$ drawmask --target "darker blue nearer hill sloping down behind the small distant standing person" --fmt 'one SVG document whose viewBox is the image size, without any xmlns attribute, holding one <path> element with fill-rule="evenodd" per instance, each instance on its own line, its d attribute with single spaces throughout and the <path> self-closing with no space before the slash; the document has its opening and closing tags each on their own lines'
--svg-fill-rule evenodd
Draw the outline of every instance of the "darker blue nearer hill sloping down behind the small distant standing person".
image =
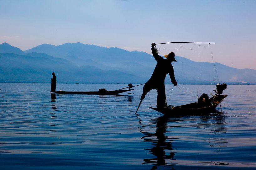
<svg viewBox="0 0 256 170">
<path fill-rule="evenodd" d="M 31 55 L 31 53 L 29 53 Z M 77 66 L 70 61 L 40 56 L 0 54 L 0 82 L 50 82 L 55 72 L 57 82 L 65 83 L 129 83 L 141 77 L 118 70 L 103 71 L 95 66 Z"/>
</svg>

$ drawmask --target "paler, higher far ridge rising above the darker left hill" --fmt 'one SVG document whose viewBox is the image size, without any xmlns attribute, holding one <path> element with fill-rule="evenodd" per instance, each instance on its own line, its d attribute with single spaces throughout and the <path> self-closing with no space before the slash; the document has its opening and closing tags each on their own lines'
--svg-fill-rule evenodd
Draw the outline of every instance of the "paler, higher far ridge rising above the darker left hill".
<svg viewBox="0 0 256 170">
<path fill-rule="evenodd" d="M 147 66 L 155 63 L 154 58 L 145 52 L 129 52 L 116 47 L 107 48 L 82 43 L 65 43 L 58 46 L 42 44 L 24 52 L 45 53 L 72 61 L 78 66 L 87 65 L 88 60 L 108 66 L 118 66 L 122 62 L 128 61 L 146 64 Z"/>
</svg>

